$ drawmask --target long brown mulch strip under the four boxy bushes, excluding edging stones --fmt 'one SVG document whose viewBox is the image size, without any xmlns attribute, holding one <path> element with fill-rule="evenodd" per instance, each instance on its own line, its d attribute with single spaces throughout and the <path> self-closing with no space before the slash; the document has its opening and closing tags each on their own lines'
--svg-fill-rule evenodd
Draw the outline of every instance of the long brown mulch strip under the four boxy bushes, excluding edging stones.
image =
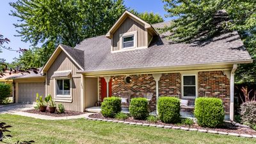
<svg viewBox="0 0 256 144">
<path fill-rule="evenodd" d="M 90 115 L 89 117 L 95 118 L 95 119 L 107 119 L 107 120 L 118 120 L 118 119 L 111 119 L 107 117 L 103 117 L 101 113 L 95 113 L 93 115 Z M 126 120 L 123 120 L 125 122 L 138 122 L 138 123 L 143 123 L 143 124 L 156 124 L 156 125 L 163 125 L 163 126 L 180 126 L 180 127 L 188 127 L 186 125 L 182 124 L 165 124 L 158 120 L 156 123 L 148 122 L 147 120 L 134 120 L 132 117 L 129 117 Z M 238 133 L 238 134 L 253 134 L 256 135 L 256 131 L 250 128 L 246 127 L 237 127 L 231 124 L 230 122 L 225 122 L 222 126 L 217 127 L 217 128 L 205 128 L 205 127 L 200 127 L 198 124 L 193 124 L 190 128 L 196 128 L 196 129 L 207 129 L 207 130 L 212 130 L 212 131 L 223 131 L 226 133 Z"/>
</svg>

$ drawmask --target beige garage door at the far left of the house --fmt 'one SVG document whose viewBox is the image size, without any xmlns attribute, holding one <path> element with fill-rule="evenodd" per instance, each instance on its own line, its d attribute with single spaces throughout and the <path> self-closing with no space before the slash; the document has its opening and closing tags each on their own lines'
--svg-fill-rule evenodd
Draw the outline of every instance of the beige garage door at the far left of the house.
<svg viewBox="0 0 256 144">
<path fill-rule="evenodd" d="M 45 86 L 44 83 L 19 83 L 19 103 L 33 103 L 36 101 L 36 93 L 39 93 L 39 96 L 45 95 Z"/>
</svg>

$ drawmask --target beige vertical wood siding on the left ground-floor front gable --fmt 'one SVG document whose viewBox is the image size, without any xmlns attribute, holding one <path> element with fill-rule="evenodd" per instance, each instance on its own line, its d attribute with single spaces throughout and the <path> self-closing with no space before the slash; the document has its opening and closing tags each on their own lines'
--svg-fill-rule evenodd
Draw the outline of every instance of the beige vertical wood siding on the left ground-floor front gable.
<svg viewBox="0 0 256 144">
<path fill-rule="evenodd" d="M 72 102 L 60 102 L 65 106 L 66 110 L 81 112 L 81 75 L 76 72 L 79 71 L 78 66 L 72 60 L 61 52 L 56 61 L 52 63 L 51 68 L 47 71 L 47 94 L 54 96 L 54 79 L 51 78 L 54 71 L 72 70 Z M 58 104 L 58 103 L 57 103 Z"/>
</svg>

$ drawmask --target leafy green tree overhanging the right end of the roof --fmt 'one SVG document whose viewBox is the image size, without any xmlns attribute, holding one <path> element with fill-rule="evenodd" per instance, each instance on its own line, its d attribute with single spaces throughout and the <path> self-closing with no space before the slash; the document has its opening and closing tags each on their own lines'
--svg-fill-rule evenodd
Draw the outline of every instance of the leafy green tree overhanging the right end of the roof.
<svg viewBox="0 0 256 144">
<path fill-rule="evenodd" d="M 196 38 L 212 38 L 223 31 L 238 31 L 244 45 L 256 59 L 256 1 L 255 0 L 163 0 L 166 17 L 176 17 L 162 29 L 170 31 L 168 38 L 191 42 Z M 225 12 L 228 18 L 216 18 Z M 237 82 L 256 82 L 256 64 L 241 64 L 236 72 Z"/>
</svg>

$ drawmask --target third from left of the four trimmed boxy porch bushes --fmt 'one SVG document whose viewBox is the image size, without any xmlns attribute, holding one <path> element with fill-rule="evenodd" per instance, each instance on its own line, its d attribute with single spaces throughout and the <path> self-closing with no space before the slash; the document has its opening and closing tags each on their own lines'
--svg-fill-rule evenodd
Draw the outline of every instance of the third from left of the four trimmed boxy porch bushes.
<svg viewBox="0 0 256 144">
<path fill-rule="evenodd" d="M 180 121 L 180 100 L 177 97 L 159 97 L 157 109 L 162 122 L 176 123 Z"/>
</svg>

